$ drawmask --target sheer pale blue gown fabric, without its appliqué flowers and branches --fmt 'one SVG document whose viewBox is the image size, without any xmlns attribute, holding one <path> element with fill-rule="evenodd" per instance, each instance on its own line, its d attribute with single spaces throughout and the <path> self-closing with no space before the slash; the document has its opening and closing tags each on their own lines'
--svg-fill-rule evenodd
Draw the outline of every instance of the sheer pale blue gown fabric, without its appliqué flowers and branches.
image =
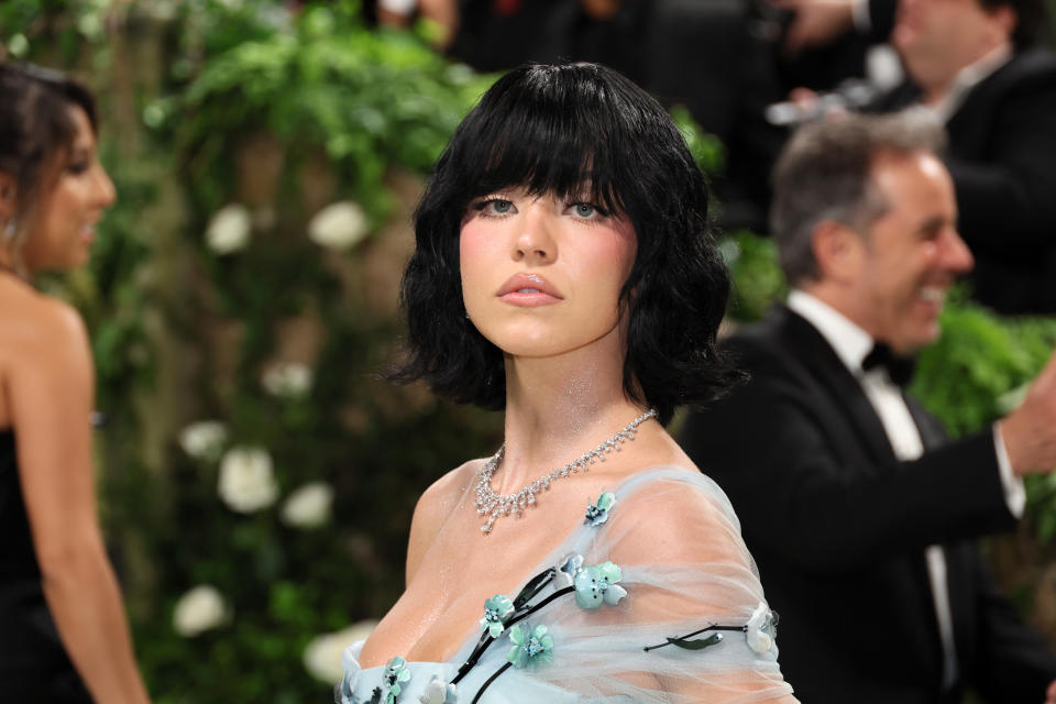
<svg viewBox="0 0 1056 704">
<path fill-rule="evenodd" d="M 528 702 L 795 702 L 778 667 L 776 644 L 765 636 L 749 646 L 746 626 L 765 613 L 759 575 L 740 538 L 740 525 L 722 490 L 695 471 L 653 468 L 628 477 L 613 491 L 615 505 L 593 525 L 584 522 L 538 565 L 560 568 L 569 556 L 583 566 L 610 561 L 626 595 L 615 604 L 585 608 L 571 591 L 519 623 L 531 632 L 543 625 L 552 638 L 552 660 L 509 667 L 487 684 L 482 704 Z M 455 559 L 452 556 L 452 559 Z M 568 581 L 548 584 L 529 604 L 538 604 Z M 515 598 L 522 584 L 509 585 Z M 615 600 L 613 600 L 615 601 Z M 481 616 L 484 604 L 481 604 Z M 721 634 L 702 649 L 668 644 L 711 625 L 735 629 L 690 636 L 690 646 Z M 758 620 L 757 620 L 758 625 Z M 469 704 L 506 663 L 510 631 L 504 630 L 457 684 L 457 701 Z M 409 662 L 410 679 L 391 696 L 386 668 L 361 670 L 362 642 L 343 657 L 345 676 L 339 704 L 417 704 L 430 681 L 450 683 L 477 646 L 474 630 L 448 662 Z M 767 629 L 770 635 L 773 629 Z M 758 635 L 758 630 L 757 630 Z M 668 644 L 668 645 L 664 645 Z M 646 647 L 663 646 L 646 651 Z M 761 651 L 761 652 L 760 652 Z M 436 685 L 433 685 L 436 686 Z M 443 698 L 420 701 L 443 703 Z M 448 698 L 450 704 L 452 698 Z"/>
</svg>

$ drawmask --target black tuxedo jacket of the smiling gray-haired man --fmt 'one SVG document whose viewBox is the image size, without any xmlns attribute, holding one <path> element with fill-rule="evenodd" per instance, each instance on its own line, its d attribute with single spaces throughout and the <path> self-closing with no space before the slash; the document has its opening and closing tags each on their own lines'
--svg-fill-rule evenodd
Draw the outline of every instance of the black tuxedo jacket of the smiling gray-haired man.
<svg viewBox="0 0 1056 704">
<path fill-rule="evenodd" d="M 692 414 L 682 447 L 729 495 L 779 661 L 805 704 L 1040 704 L 1056 658 L 994 591 L 971 539 L 1014 526 L 992 433 L 946 442 L 910 400 L 926 451 L 899 462 L 858 381 L 820 332 L 778 307 L 727 346 L 750 381 Z M 942 543 L 963 682 L 943 650 L 924 550 Z"/>
</svg>

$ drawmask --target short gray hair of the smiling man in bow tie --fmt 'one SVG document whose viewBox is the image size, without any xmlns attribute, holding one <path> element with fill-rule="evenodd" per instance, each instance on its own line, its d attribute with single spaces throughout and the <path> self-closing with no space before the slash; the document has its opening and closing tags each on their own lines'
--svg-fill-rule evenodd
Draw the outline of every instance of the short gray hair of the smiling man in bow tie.
<svg viewBox="0 0 1056 704">
<path fill-rule="evenodd" d="M 789 141 L 773 169 L 770 230 L 789 284 L 816 280 L 812 238 L 822 222 L 859 232 L 887 213 L 872 166 L 880 155 L 937 153 L 945 135 L 924 110 L 886 116 L 850 114 L 807 124 Z"/>
</svg>

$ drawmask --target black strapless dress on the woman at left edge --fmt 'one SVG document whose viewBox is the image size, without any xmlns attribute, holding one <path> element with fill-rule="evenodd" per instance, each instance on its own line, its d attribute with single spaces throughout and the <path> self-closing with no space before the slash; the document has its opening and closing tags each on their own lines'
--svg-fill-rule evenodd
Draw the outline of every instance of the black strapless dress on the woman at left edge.
<svg viewBox="0 0 1056 704">
<path fill-rule="evenodd" d="M 92 702 L 44 601 L 11 430 L 0 430 L 0 702 Z"/>
</svg>

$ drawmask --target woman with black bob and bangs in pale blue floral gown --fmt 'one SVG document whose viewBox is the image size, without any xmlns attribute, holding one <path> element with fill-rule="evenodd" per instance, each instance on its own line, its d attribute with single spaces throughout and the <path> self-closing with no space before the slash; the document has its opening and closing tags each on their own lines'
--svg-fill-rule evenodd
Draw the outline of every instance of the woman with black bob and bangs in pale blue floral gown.
<svg viewBox="0 0 1056 704">
<path fill-rule="evenodd" d="M 393 376 L 505 409 L 505 442 L 419 499 L 338 702 L 795 701 L 737 518 L 661 426 L 734 377 L 706 215 L 679 130 L 607 68 L 518 68 L 465 118 Z"/>
</svg>

